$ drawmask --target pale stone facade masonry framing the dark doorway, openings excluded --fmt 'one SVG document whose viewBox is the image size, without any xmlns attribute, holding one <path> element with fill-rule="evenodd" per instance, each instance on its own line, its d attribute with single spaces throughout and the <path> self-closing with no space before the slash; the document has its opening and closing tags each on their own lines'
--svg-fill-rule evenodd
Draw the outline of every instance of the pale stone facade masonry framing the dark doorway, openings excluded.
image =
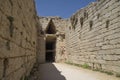
<svg viewBox="0 0 120 80">
<path fill-rule="evenodd" d="M 39 40 L 39 43 L 40 44 L 45 44 L 46 43 L 46 33 L 45 33 L 45 30 L 50 22 L 50 20 L 52 19 L 53 21 L 53 24 L 56 28 L 56 48 L 55 48 L 55 61 L 56 62 L 61 62 L 61 61 L 64 61 L 65 58 L 66 58 L 66 55 L 65 55 L 65 28 L 67 26 L 67 20 L 65 19 L 62 19 L 60 17 L 39 17 L 39 20 L 40 20 L 40 24 L 42 26 L 42 30 L 43 30 L 43 34 L 44 34 L 44 39 L 41 39 Z M 43 38 L 41 37 L 41 38 Z M 45 46 L 39 46 L 39 51 L 38 52 L 38 55 L 41 57 L 43 57 L 42 59 L 44 60 L 41 60 L 40 58 L 40 61 L 45 61 Z M 42 52 L 42 53 L 41 53 Z"/>
</svg>

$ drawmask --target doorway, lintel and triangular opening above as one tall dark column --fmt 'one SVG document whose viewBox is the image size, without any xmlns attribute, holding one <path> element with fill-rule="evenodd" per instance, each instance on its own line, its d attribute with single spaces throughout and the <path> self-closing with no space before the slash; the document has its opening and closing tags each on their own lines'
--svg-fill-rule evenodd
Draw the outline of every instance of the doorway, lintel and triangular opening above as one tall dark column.
<svg viewBox="0 0 120 80">
<path fill-rule="evenodd" d="M 55 44 L 56 44 L 56 37 L 54 35 L 55 33 L 56 33 L 55 25 L 51 19 L 46 28 L 46 34 L 47 34 L 47 37 L 46 37 L 46 62 L 54 62 L 55 61 Z"/>
</svg>

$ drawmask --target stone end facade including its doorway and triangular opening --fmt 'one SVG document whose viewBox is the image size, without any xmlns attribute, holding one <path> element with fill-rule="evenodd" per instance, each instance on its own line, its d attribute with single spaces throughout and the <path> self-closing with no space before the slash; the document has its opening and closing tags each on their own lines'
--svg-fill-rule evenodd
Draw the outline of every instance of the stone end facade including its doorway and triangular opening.
<svg viewBox="0 0 120 80">
<path fill-rule="evenodd" d="M 38 62 L 46 61 L 47 56 L 54 59 L 55 62 L 62 62 L 66 59 L 65 53 L 65 28 L 67 27 L 67 20 L 60 17 L 39 17 L 42 26 L 43 36 L 38 36 Z M 53 49 L 48 49 L 47 46 L 54 46 Z M 52 52 L 52 51 L 54 52 Z M 51 53 L 51 54 L 50 54 Z M 50 54 L 50 55 L 49 55 Z"/>
</svg>

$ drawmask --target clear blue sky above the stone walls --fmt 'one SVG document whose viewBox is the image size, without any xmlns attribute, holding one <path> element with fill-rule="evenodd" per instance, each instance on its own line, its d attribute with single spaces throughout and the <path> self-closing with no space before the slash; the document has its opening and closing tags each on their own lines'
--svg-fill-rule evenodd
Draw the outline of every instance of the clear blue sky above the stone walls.
<svg viewBox="0 0 120 80">
<path fill-rule="evenodd" d="M 69 18 L 73 13 L 96 0 L 35 0 L 38 16 Z"/>
</svg>

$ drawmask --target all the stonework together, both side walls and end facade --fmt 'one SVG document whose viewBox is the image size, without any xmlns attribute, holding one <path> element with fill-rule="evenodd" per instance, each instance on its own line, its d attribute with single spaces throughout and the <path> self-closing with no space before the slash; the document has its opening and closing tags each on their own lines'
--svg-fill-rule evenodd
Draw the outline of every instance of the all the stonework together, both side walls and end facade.
<svg viewBox="0 0 120 80">
<path fill-rule="evenodd" d="M 37 17 L 34 0 L 0 0 L 0 80 L 25 80 L 35 62 L 120 76 L 120 0 L 97 0 L 69 19 Z"/>
</svg>

